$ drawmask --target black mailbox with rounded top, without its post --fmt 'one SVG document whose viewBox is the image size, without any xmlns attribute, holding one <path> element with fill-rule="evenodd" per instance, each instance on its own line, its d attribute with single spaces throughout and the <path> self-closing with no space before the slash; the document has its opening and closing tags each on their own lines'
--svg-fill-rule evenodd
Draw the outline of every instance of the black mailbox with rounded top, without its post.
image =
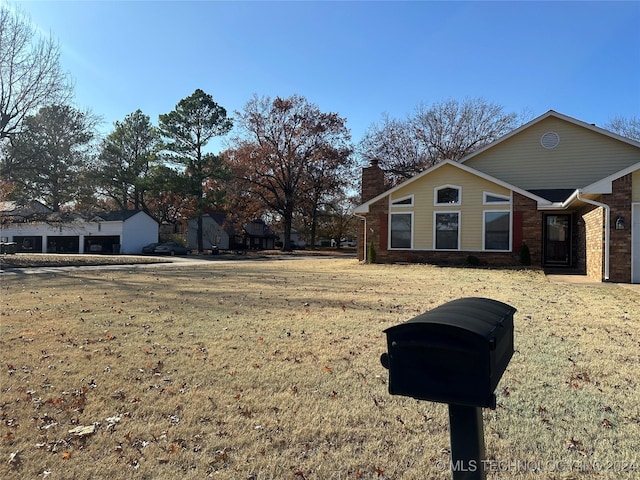
<svg viewBox="0 0 640 480">
<path fill-rule="evenodd" d="M 389 393 L 495 408 L 494 390 L 513 355 L 516 309 L 461 298 L 385 330 Z"/>
</svg>

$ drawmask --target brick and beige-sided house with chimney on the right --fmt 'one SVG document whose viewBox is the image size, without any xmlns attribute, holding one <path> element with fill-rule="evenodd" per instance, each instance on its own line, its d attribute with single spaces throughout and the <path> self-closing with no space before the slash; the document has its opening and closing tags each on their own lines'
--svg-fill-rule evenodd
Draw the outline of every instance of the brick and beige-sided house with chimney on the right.
<svg viewBox="0 0 640 480">
<path fill-rule="evenodd" d="M 640 142 L 559 114 L 532 120 L 460 162 L 385 191 L 362 173 L 358 255 L 379 262 L 571 269 L 640 283 Z"/>
</svg>

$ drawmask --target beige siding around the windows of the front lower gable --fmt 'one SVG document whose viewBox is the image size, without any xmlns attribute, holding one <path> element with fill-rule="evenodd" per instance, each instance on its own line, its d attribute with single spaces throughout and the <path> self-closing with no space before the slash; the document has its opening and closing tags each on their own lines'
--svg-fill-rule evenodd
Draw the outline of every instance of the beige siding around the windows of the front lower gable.
<svg viewBox="0 0 640 480">
<path fill-rule="evenodd" d="M 462 188 L 460 205 L 436 206 L 434 189 L 443 185 L 456 185 Z M 468 251 L 482 250 L 482 223 L 485 210 L 510 210 L 510 205 L 483 205 L 484 192 L 511 196 L 511 191 L 483 178 L 472 175 L 451 165 L 444 165 L 429 175 L 401 188 L 391 196 L 394 199 L 414 195 L 413 207 L 390 207 L 391 213 L 414 212 L 413 248 L 416 250 L 433 249 L 434 212 L 461 212 L 460 249 Z"/>
</svg>

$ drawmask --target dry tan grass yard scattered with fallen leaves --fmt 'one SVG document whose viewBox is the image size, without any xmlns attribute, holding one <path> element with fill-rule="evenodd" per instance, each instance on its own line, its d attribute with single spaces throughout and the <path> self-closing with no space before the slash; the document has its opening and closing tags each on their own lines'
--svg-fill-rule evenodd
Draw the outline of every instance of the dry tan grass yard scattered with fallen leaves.
<svg viewBox="0 0 640 480">
<path fill-rule="evenodd" d="M 640 298 L 539 271 L 353 259 L 5 276 L 0 478 L 450 478 L 446 405 L 392 397 L 383 330 L 518 309 L 488 478 L 640 477 Z"/>
</svg>

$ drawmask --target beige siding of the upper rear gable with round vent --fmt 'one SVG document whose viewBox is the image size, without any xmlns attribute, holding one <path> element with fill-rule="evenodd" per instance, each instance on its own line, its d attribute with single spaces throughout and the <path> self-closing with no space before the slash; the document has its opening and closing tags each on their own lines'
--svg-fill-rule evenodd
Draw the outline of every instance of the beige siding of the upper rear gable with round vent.
<svg viewBox="0 0 640 480">
<path fill-rule="evenodd" d="M 546 149 L 542 135 L 560 143 Z M 640 162 L 640 149 L 550 117 L 470 158 L 465 165 L 525 190 L 582 188 Z"/>
</svg>

